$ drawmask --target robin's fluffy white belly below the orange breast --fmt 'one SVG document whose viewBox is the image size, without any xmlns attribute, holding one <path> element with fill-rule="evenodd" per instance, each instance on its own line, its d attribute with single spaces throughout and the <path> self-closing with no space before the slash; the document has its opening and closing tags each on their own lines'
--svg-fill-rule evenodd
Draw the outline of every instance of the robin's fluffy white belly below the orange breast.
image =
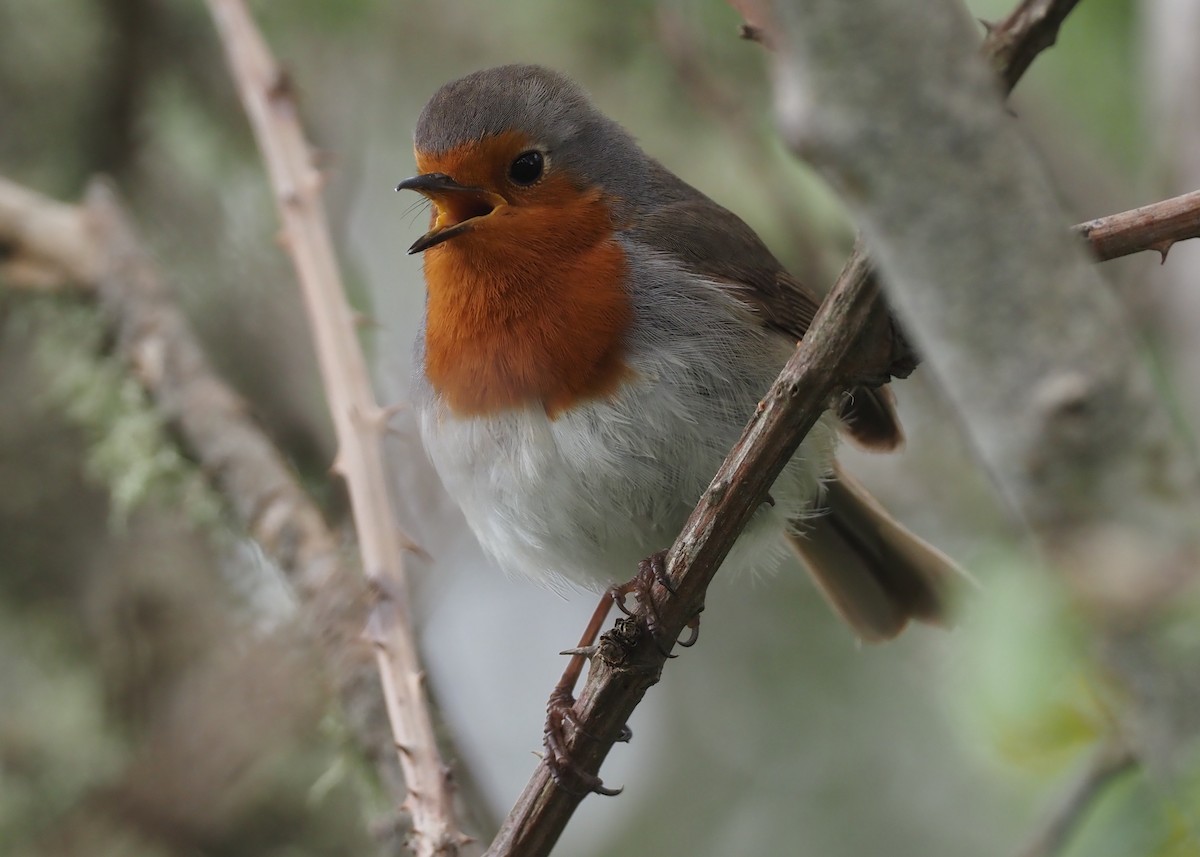
<svg viewBox="0 0 1200 857">
<path fill-rule="evenodd" d="M 767 376 L 758 389 L 726 372 L 704 378 L 698 395 L 694 384 L 670 380 L 676 367 L 642 361 L 635 368 L 638 377 L 612 400 L 553 420 L 540 406 L 466 419 L 436 396 L 419 406 L 443 484 L 510 574 L 595 589 L 632 577 L 640 559 L 671 546 L 773 378 L 758 370 Z M 726 384 L 736 389 L 720 389 Z M 815 504 L 833 438 L 826 418 L 776 480 L 775 504 L 758 510 L 730 564 L 769 569 L 785 555 L 782 531 Z"/>
</svg>

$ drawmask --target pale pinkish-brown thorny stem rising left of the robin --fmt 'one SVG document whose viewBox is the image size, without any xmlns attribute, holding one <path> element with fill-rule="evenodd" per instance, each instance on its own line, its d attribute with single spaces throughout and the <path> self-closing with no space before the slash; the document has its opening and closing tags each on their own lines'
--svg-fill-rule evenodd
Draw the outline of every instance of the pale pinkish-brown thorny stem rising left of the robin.
<svg viewBox="0 0 1200 857">
<path fill-rule="evenodd" d="M 455 820 L 449 768 L 438 754 L 408 606 L 403 550 L 384 479 L 386 414 L 374 400 L 322 208 L 322 178 L 300 128 L 287 77 L 241 0 L 209 0 L 229 67 L 275 188 L 286 245 L 304 293 L 337 435 L 364 570 L 388 715 L 404 772 L 419 857 L 455 855 L 468 838 Z"/>
</svg>

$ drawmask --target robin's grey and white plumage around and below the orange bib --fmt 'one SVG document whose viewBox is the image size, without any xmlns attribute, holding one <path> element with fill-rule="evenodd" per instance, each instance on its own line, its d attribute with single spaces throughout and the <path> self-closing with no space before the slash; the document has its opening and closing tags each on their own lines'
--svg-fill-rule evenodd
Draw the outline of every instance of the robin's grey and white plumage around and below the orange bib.
<svg viewBox="0 0 1200 857">
<path fill-rule="evenodd" d="M 716 283 L 670 257 L 625 246 L 635 323 L 630 378 L 550 418 L 540 402 L 455 416 L 424 376 L 414 401 L 426 450 L 484 549 L 508 571 L 600 588 L 670 546 L 791 342 Z M 834 432 L 818 424 L 739 539 L 731 563 L 769 567 L 788 521 L 820 493 Z"/>
</svg>

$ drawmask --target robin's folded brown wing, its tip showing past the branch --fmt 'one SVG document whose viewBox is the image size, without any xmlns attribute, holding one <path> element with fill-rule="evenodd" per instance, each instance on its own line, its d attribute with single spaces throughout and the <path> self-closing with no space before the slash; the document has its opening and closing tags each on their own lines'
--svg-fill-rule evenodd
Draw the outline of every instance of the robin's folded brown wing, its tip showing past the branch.
<svg viewBox="0 0 1200 857">
<path fill-rule="evenodd" d="M 808 332 L 820 299 L 793 277 L 745 221 L 662 170 L 655 174 L 655 196 L 666 199 L 642 211 L 630 236 L 670 253 L 714 282 L 727 283 L 762 323 L 790 338 Z M 862 447 L 895 449 L 904 431 L 895 400 L 886 386 L 854 388 L 842 398 L 838 415 Z"/>
</svg>

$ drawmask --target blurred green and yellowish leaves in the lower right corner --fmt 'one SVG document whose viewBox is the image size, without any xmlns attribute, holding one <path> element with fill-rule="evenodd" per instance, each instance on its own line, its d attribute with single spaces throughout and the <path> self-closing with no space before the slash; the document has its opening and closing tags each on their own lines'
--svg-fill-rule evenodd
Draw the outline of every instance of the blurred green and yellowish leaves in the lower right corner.
<svg viewBox="0 0 1200 857">
<path fill-rule="evenodd" d="M 1108 679 L 1091 642 L 1096 630 L 1060 577 L 1007 553 L 979 570 L 986 598 L 974 600 L 959 631 L 964 648 L 952 699 L 965 744 L 1021 781 L 1036 817 L 1099 742 L 1129 729 L 1130 701 Z M 1195 663 L 1196 636 L 1194 600 L 1180 599 L 1156 634 L 1156 651 L 1171 663 Z M 1198 750 L 1172 753 L 1168 769 L 1139 754 L 1145 768 L 1102 784 L 1064 856 L 1200 857 Z"/>
</svg>

